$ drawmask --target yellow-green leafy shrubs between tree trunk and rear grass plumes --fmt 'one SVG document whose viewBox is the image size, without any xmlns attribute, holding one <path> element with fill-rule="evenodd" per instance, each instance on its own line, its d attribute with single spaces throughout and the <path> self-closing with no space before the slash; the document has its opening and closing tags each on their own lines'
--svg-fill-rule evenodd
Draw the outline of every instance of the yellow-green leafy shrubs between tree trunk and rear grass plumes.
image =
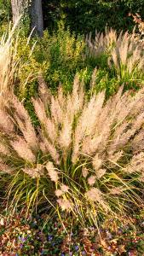
<svg viewBox="0 0 144 256">
<path fill-rule="evenodd" d="M 27 96 L 30 90 L 33 90 L 31 95 L 35 94 L 37 73 L 43 73 L 53 89 L 60 82 L 66 90 L 71 89 L 75 73 L 84 66 L 84 47 L 83 38 L 75 38 L 68 30 L 65 32 L 62 29 L 53 36 L 44 32 L 43 38 L 20 37 L 17 49 L 20 96 Z"/>
</svg>

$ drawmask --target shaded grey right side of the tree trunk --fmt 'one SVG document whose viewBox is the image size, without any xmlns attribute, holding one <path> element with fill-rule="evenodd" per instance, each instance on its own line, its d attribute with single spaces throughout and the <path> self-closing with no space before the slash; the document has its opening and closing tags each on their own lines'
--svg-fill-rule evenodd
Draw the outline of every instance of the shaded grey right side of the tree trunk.
<svg viewBox="0 0 144 256">
<path fill-rule="evenodd" d="M 31 29 L 38 36 L 43 36 L 42 0 L 32 0 L 30 7 Z"/>
</svg>

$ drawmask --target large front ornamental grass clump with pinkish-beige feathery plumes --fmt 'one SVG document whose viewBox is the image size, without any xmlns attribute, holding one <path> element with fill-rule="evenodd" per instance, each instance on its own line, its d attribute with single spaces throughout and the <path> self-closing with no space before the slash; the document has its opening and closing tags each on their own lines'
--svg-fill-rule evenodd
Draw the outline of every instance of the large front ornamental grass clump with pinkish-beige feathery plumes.
<svg viewBox="0 0 144 256">
<path fill-rule="evenodd" d="M 0 111 L 0 175 L 9 210 L 53 207 L 82 224 L 140 207 L 144 181 L 144 90 L 54 96 L 39 79 L 39 126 L 16 96 Z M 5 182 L 5 183 L 4 183 Z"/>
</svg>

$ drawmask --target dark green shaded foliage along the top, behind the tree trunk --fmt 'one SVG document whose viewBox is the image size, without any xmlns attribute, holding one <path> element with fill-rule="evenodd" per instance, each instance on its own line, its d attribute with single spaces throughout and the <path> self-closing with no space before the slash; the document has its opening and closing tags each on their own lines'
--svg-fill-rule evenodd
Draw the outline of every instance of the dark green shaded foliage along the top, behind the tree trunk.
<svg viewBox="0 0 144 256">
<path fill-rule="evenodd" d="M 129 13 L 139 13 L 144 18 L 143 0 L 43 0 L 44 28 L 49 31 L 61 22 L 72 31 L 104 31 L 106 25 L 130 31 L 134 27 Z M 0 0 L 0 23 L 11 19 L 10 0 Z"/>
</svg>

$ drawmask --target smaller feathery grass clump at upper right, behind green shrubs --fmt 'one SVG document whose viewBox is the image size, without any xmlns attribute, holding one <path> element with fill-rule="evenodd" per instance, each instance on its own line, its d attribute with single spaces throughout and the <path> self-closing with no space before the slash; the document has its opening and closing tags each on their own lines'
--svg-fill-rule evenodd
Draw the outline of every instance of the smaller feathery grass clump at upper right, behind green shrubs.
<svg viewBox="0 0 144 256">
<path fill-rule="evenodd" d="M 135 31 L 128 32 L 106 31 L 95 32 L 95 40 L 87 36 L 88 55 L 100 58 L 107 56 L 107 66 L 113 70 L 118 80 L 135 85 L 143 83 L 144 50 L 141 36 Z"/>
</svg>

